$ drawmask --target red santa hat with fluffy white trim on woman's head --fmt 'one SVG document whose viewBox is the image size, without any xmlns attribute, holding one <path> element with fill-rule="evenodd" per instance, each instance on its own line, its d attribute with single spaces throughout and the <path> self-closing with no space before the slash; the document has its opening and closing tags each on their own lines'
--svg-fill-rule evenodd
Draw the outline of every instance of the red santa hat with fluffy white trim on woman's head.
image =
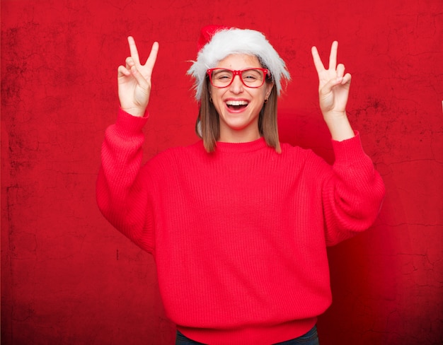
<svg viewBox="0 0 443 345">
<path fill-rule="evenodd" d="M 227 28 L 208 25 L 202 28 L 198 40 L 197 61 L 192 63 L 188 74 L 195 78 L 195 98 L 200 101 L 202 85 L 207 69 L 213 69 L 218 62 L 230 54 L 248 54 L 258 57 L 260 63 L 270 71 L 272 81 L 277 87 L 277 95 L 282 90 L 282 78 L 289 81 L 289 71 L 283 59 L 275 51 L 263 33 L 255 30 Z"/>
</svg>

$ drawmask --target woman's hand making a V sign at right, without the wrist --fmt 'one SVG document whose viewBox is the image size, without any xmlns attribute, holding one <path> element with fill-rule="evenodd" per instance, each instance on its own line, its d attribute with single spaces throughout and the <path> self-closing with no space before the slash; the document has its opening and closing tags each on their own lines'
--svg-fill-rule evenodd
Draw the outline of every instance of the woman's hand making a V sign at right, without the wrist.
<svg viewBox="0 0 443 345">
<path fill-rule="evenodd" d="M 346 115 L 346 103 L 351 84 L 351 75 L 345 74 L 345 66 L 337 65 L 338 42 L 330 47 L 329 66 L 325 69 L 316 47 L 312 47 L 313 63 L 318 74 L 318 97 L 320 109 L 326 121 L 330 117 Z"/>
</svg>

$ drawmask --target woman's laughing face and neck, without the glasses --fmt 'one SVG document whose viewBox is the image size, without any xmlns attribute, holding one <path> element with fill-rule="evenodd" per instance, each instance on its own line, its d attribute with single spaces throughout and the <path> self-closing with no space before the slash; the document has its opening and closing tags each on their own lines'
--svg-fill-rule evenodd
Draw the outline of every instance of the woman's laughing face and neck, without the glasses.
<svg viewBox="0 0 443 345">
<path fill-rule="evenodd" d="M 217 68 L 241 71 L 262 68 L 258 58 L 247 54 L 231 54 L 217 64 Z M 209 86 L 209 95 L 219 114 L 220 139 L 224 142 L 248 142 L 260 138 L 258 116 L 272 90 L 272 83 L 260 88 L 248 88 L 234 76 L 226 88 Z"/>
</svg>

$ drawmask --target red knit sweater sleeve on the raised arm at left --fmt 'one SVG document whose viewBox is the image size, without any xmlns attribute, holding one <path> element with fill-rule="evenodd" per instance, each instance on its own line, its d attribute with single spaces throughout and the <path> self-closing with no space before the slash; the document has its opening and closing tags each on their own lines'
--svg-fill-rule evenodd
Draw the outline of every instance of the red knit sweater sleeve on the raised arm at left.
<svg viewBox="0 0 443 345">
<path fill-rule="evenodd" d="M 120 109 L 117 121 L 105 131 L 96 184 L 103 216 L 143 250 L 154 248 L 153 216 L 149 208 L 149 176 L 142 169 L 142 128 L 146 117 Z"/>
</svg>

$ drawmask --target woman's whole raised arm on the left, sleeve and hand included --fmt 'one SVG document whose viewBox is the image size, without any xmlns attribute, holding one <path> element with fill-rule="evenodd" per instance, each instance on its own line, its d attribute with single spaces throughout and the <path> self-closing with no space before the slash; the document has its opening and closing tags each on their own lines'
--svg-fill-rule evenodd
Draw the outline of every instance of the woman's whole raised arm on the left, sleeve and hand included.
<svg viewBox="0 0 443 345">
<path fill-rule="evenodd" d="M 108 221 L 144 250 L 154 247 L 150 226 L 149 175 L 142 168 L 144 117 L 151 92 L 151 74 L 159 44 L 152 45 L 144 65 L 134 39 L 128 37 L 131 56 L 118 67 L 121 110 L 105 132 L 96 195 L 98 208 Z"/>
</svg>

